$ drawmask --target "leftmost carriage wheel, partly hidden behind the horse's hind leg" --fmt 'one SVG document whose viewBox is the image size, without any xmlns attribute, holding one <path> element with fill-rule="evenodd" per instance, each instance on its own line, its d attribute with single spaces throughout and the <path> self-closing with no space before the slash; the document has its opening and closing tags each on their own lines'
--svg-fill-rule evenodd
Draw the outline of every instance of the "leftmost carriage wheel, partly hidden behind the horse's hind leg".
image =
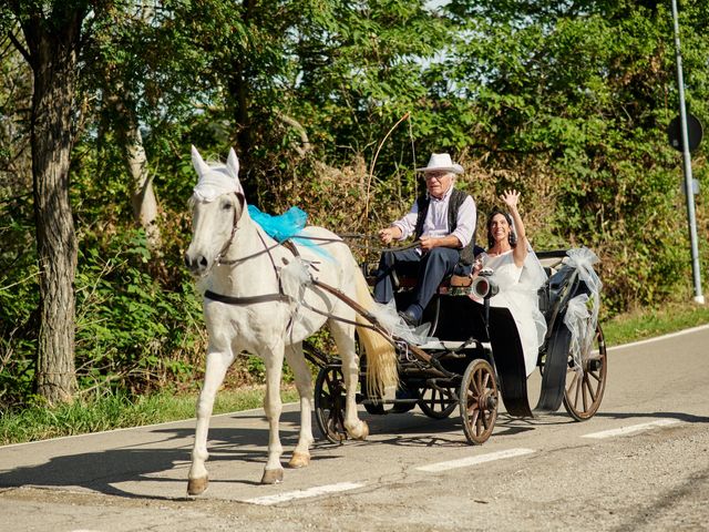
<svg viewBox="0 0 709 532">
<path fill-rule="evenodd" d="M 316 422 L 322 436 L 332 443 L 347 440 L 345 429 L 345 379 L 339 367 L 328 366 L 318 371 L 315 381 Z"/>
</svg>

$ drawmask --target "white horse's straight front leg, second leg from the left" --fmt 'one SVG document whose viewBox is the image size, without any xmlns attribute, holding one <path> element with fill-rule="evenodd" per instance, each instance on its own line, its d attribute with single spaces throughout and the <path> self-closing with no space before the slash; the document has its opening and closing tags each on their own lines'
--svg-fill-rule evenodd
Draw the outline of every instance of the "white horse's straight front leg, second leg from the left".
<svg viewBox="0 0 709 532">
<path fill-rule="evenodd" d="M 266 350 L 268 349 L 268 350 Z M 266 348 L 264 364 L 266 366 L 266 396 L 264 397 L 264 410 L 268 419 L 268 460 L 261 477 L 261 484 L 277 484 L 284 480 L 284 468 L 280 464 L 280 456 L 284 448 L 280 444 L 278 423 L 282 403 L 280 401 L 280 376 L 284 368 L 282 344 Z"/>
</svg>

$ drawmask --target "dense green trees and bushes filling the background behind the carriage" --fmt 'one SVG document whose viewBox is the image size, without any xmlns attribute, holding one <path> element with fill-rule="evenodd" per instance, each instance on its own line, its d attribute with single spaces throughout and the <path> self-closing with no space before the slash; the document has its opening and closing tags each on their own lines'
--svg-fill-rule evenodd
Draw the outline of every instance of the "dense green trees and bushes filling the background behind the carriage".
<svg viewBox="0 0 709 532">
<path fill-rule="evenodd" d="M 198 297 L 179 265 L 189 144 L 213 158 L 236 147 L 249 202 L 271 213 L 300 205 L 340 233 L 401 214 L 419 186 L 412 168 L 446 150 L 464 163 L 459 183 L 481 213 L 515 186 L 537 248 L 587 245 L 602 256 L 608 313 L 661 301 L 689 266 L 680 158 L 665 135 L 677 114 L 668 9 L 630 0 L 2 2 L 0 170 L 17 177 L 0 184 L 11 219 L 0 227 L 0 379 L 17 377 L 11 395 L 22 396 L 31 376 L 39 383 L 64 372 L 42 357 L 70 352 L 62 346 L 72 341 L 84 389 L 137 392 L 198 367 Z M 687 1 L 680 16 L 687 93 L 701 119 L 709 13 Z M 22 104 L 32 81 L 33 113 Z M 34 202 L 22 193 L 30 140 Z M 702 191 L 706 154 L 705 143 L 695 154 Z M 153 184 L 164 211 L 160 256 L 129 201 Z M 697 206 L 703 236 L 701 196 Z M 39 259 L 23 253 L 32 225 Z M 75 323 L 73 307 L 59 306 L 73 297 L 73 265 Z M 6 364 L 34 347 L 38 360 Z"/>
</svg>

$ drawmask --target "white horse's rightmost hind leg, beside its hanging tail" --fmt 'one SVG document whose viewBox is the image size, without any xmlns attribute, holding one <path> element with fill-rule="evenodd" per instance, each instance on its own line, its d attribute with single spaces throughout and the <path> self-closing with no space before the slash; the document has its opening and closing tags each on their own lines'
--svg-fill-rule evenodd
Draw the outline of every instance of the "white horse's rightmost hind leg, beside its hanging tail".
<svg viewBox="0 0 709 532">
<path fill-rule="evenodd" d="M 357 383 L 359 380 L 359 357 L 354 350 L 354 326 L 330 320 L 330 331 L 335 337 L 345 378 L 345 429 L 350 438 L 364 440 L 369 436 L 367 421 L 357 416 Z"/>
</svg>

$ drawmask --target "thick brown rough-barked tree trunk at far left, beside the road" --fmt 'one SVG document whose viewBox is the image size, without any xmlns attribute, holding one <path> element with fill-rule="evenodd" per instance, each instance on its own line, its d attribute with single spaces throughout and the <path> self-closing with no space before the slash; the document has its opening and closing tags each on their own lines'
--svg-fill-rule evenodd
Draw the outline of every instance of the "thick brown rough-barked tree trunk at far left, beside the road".
<svg viewBox="0 0 709 532">
<path fill-rule="evenodd" d="M 69 201 L 76 62 L 83 16 L 61 27 L 23 25 L 34 74 L 32 178 L 40 285 L 37 391 L 50 405 L 73 399 L 76 235 Z"/>
</svg>

